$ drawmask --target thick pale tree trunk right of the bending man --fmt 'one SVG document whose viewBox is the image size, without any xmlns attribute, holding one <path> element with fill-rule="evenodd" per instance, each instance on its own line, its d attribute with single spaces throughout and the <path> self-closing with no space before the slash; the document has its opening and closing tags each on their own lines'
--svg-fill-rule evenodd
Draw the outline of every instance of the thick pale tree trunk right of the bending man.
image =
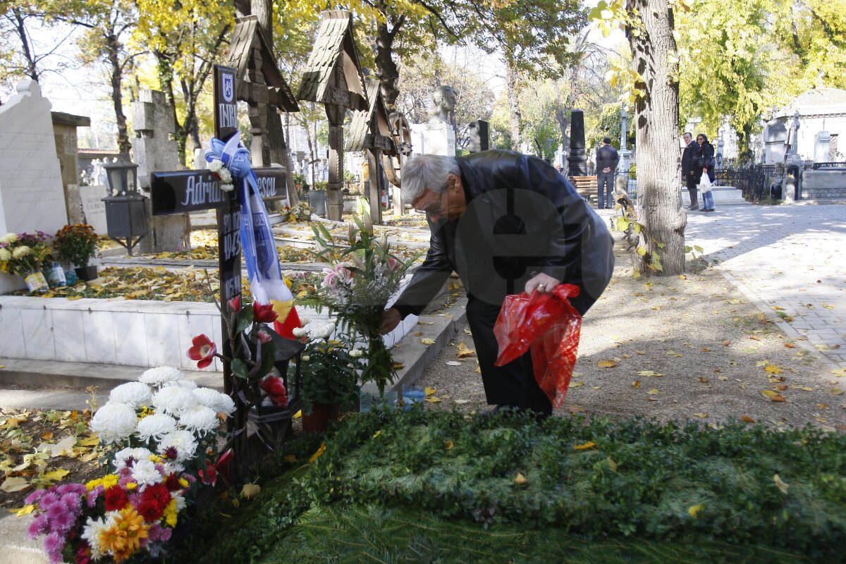
<svg viewBox="0 0 846 564">
<path fill-rule="evenodd" d="M 640 12 L 643 28 L 627 30 L 632 62 L 645 91 L 634 103 L 637 140 L 638 209 L 646 254 L 641 271 L 664 276 L 684 272 L 684 227 L 678 148 L 678 63 L 673 38 L 673 8 L 662 0 L 628 0 Z"/>
</svg>

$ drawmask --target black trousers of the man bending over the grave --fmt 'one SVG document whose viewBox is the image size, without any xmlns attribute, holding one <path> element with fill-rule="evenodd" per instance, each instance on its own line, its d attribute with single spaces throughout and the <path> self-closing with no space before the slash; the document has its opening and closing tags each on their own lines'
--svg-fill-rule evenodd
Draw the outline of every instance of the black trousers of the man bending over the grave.
<svg viewBox="0 0 846 564">
<path fill-rule="evenodd" d="M 497 322 L 501 305 L 486 304 L 468 296 L 467 320 L 473 333 L 476 354 L 479 355 L 481 381 L 485 396 L 491 405 L 532 409 L 538 413 L 552 413 L 552 402 L 537 385 L 531 365 L 531 353 L 504 366 L 494 366 L 499 347 L 493 326 Z"/>
</svg>

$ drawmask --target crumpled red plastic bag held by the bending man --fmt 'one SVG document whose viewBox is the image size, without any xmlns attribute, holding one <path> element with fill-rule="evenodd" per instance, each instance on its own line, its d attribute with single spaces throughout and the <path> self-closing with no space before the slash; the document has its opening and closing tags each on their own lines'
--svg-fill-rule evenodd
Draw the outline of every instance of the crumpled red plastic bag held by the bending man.
<svg viewBox="0 0 846 564">
<path fill-rule="evenodd" d="M 579 348 L 581 315 L 569 298 L 579 295 L 573 284 L 559 284 L 552 293 L 505 297 L 493 333 L 499 344 L 495 366 L 508 364 L 531 348 L 532 369 L 552 406 L 567 397 Z"/>
</svg>

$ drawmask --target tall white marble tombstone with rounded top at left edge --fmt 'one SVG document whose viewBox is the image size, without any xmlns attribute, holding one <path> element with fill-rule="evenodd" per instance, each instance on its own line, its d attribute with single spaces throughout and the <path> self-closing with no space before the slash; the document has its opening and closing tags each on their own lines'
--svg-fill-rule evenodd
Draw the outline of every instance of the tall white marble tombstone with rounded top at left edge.
<svg viewBox="0 0 846 564">
<path fill-rule="evenodd" d="M 35 80 L 24 80 L 0 107 L 0 236 L 41 230 L 56 233 L 68 222 L 62 171 L 53 136 L 52 103 Z M 0 274 L 0 293 L 24 287 Z"/>
</svg>

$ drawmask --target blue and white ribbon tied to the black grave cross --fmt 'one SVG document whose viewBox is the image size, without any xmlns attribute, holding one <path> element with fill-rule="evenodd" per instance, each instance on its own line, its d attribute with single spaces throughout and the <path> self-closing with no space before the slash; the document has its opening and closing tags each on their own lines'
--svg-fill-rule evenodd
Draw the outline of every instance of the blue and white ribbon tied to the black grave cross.
<svg viewBox="0 0 846 564">
<path fill-rule="evenodd" d="M 238 190 L 241 204 L 241 248 L 250 279 L 250 293 L 259 304 L 270 300 L 288 301 L 290 290 L 285 285 L 279 255 L 264 201 L 261 200 L 255 172 L 250 163 L 250 151 L 241 145 L 240 132 L 236 131 L 225 143 L 212 137 L 206 162 L 222 161 L 232 173 L 233 184 Z"/>
</svg>

